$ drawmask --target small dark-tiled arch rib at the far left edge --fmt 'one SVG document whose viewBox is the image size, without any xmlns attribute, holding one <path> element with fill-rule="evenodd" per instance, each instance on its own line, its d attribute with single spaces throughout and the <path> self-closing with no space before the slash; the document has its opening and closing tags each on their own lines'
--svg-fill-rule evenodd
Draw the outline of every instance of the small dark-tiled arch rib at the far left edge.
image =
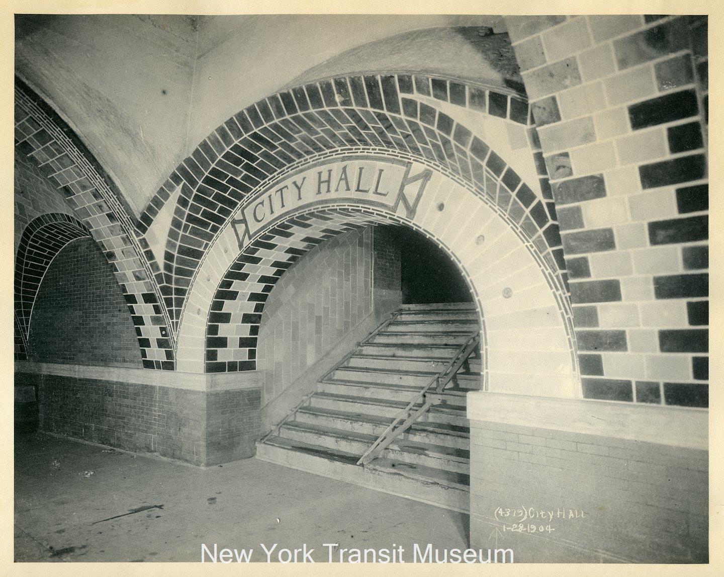
<svg viewBox="0 0 724 577">
<path fill-rule="evenodd" d="M 88 237 L 83 224 L 67 214 L 43 214 L 33 219 L 20 237 L 15 265 L 15 360 L 28 359 L 28 329 L 35 296 L 56 254 L 76 238 Z"/>
</svg>

